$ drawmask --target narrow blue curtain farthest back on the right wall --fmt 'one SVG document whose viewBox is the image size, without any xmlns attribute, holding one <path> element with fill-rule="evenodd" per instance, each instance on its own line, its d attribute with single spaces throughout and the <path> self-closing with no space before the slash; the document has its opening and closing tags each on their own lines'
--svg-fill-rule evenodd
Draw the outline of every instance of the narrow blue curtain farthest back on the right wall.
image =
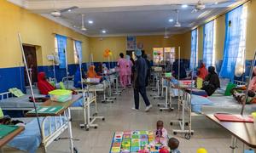
<svg viewBox="0 0 256 153">
<path fill-rule="evenodd" d="M 191 31 L 191 54 L 190 54 L 190 69 L 194 70 L 196 67 L 197 67 L 197 29 L 195 29 L 194 31 Z"/>
</svg>

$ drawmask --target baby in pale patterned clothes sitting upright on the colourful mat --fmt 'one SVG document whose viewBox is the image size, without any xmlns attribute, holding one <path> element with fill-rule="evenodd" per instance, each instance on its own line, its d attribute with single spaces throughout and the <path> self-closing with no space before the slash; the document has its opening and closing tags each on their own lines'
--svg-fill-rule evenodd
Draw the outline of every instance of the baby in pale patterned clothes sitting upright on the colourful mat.
<svg viewBox="0 0 256 153">
<path fill-rule="evenodd" d="M 149 145 L 155 146 L 155 144 L 161 144 L 162 147 L 167 146 L 168 134 L 166 128 L 164 128 L 164 122 L 158 121 L 156 122 L 156 131 L 154 141 L 152 141 Z"/>
</svg>

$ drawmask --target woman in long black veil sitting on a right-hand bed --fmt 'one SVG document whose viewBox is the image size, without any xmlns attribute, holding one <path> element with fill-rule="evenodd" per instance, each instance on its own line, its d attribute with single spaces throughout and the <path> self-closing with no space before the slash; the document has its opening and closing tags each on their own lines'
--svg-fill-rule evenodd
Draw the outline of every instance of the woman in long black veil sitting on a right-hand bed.
<svg viewBox="0 0 256 153">
<path fill-rule="evenodd" d="M 211 96 L 217 88 L 220 88 L 218 74 L 215 72 L 213 66 L 208 67 L 208 75 L 203 82 L 203 87 L 201 89 L 207 92 L 208 96 Z"/>
</svg>

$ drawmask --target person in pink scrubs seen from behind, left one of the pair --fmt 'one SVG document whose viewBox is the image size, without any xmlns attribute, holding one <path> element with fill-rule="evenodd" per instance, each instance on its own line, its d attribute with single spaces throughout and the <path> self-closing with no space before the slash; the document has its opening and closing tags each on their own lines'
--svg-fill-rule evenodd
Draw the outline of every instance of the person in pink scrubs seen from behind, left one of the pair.
<svg viewBox="0 0 256 153">
<path fill-rule="evenodd" d="M 127 61 L 124 58 L 124 54 L 120 53 L 119 54 L 120 58 L 118 59 L 118 63 L 117 65 L 119 66 L 119 79 L 120 79 L 120 83 L 122 88 L 126 87 L 127 84 Z"/>
</svg>

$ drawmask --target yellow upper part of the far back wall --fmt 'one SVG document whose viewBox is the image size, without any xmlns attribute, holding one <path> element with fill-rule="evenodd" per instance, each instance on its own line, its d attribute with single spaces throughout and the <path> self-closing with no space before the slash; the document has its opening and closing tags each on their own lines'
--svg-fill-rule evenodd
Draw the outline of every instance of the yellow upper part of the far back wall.
<svg viewBox="0 0 256 153">
<path fill-rule="evenodd" d="M 169 39 L 164 39 L 164 36 L 138 36 L 137 43 L 143 43 L 143 50 L 146 54 L 150 54 L 152 57 L 152 48 L 160 47 L 175 47 L 176 52 L 178 46 L 181 47 L 182 59 L 189 59 L 190 57 L 190 32 L 182 35 L 175 35 Z M 109 48 L 113 52 L 113 60 L 119 58 L 119 53 L 126 52 L 126 37 L 104 37 L 101 40 L 99 37 L 90 37 L 90 53 L 93 54 L 94 61 L 107 61 L 107 58 L 103 57 L 103 52 L 106 48 Z"/>
</svg>

